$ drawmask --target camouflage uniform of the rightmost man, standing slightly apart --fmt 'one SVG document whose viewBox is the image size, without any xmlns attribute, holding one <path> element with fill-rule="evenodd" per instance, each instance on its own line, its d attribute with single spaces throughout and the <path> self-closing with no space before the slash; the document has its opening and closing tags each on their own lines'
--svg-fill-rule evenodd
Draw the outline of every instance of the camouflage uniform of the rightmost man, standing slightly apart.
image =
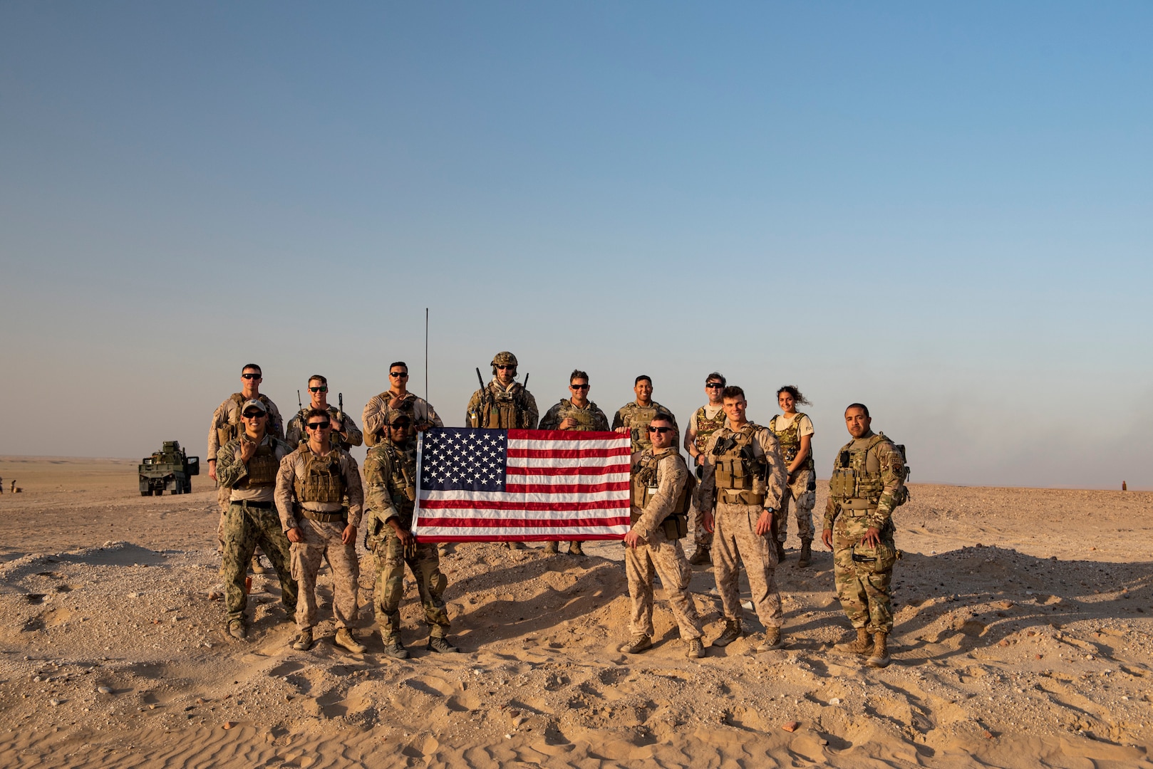
<svg viewBox="0 0 1153 769">
<path fill-rule="evenodd" d="M 905 460 L 883 433 L 871 430 L 837 452 L 824 507 L 824 528 L 832 529 L 832 573 L 849 621 L 871 634 L 892 631 L 892 510 L 906 498 Z M 880 531 L 875 549 L 860 544 L 869 528 Z"/>
</svg>

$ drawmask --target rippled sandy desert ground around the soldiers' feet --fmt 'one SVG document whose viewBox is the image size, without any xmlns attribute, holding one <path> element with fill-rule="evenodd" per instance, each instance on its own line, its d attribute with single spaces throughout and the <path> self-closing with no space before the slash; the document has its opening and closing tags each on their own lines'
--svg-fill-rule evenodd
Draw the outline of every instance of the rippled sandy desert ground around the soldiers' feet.
<svg viewBox="0 0 1153 769">
<path fill-rule="evenodd" d="M 832 651 L 847 623 L 823 550 L 779 567 L 786 646 L 760 655 L 686 659 L 660 601 L 656 647 L 619 653 L 609 543 L 460 546 L 443 564 L 459 655 L 424 649 L 412 583 L 414 656 L 380 654 L 369 558 L 366 654 L 331 621 L 293 651 L 271 572 L 236 642 L 210 598 L 206 477 L 140 497 L 135 461 L 7 457 L 0 476 L 24 489 L 0 497 L 0 766 L 1153 767 L 1151 493 L 911 487 L 894 663 L 872 670 Z M 693 589 L 708 640 L 708 568 Z"/>
</svg>

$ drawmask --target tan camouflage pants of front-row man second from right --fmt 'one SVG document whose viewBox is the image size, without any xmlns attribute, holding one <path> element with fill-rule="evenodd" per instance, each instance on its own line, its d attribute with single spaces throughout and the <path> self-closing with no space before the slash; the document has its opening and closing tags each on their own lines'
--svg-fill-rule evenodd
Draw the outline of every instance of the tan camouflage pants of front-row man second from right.
<svg viewBox="0 0 1153 769">
<path fill-rule="evenodd" d="M 760 505 L 730 505 L 717 502 L 713 525 L 713 573 L 724 606 L 725 619 L 741 619 L 740 564 L 745 564 L 753 608 L 766 627 L 781 627 L 784 612 L 777 593 L 777 550 L 769 537 L 756 533 Z"/>
</svg>

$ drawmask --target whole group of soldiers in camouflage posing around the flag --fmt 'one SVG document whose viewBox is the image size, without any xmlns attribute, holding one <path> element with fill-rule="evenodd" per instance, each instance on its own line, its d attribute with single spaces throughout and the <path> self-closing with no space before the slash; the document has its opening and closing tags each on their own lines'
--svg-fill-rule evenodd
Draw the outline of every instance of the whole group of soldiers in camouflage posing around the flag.
<svg viewBox="0 0 1153 769">
<path fill-rule="evenodd" d="M 808 401 L 792 385 L 777 392 L 782 414 L 768 427 L 749 422 L 740 387 L 717 372 L 704 382 L 708 402 L 696 409 L 685 430 L 684 447 L 695 472 L 677 446 L 676 417 L 653 400 L 653 382 L 639 376 L 635 400 L 617 410 L 610 424 L 588 399 L 589 377 L 574 370 L 570 397 L 538 419 L 536 400 L 517 377 L 517 357 L 498 353 L 492 379 L 468 401 L 466 424 L 474 428 L 541 430 L 613 430 L 632 442 L 632 526 L 625 535 L 625 571 L 632 598 L 631 638 L 623 651 L 640 654 L 653 646 L 653 586 L 658 574 L 687 646 L 687 656 L 704 655 L 703 628 L 688 590 L 691 565 L 711 563 L 721 595 L 725 627 L 711 646 L 741 638 L 744 610 L 738 576 L 745 568 L 752 604 L 764 626 L 755 649 L 782 646 L 782 606 L 775 570 L 785 558 L 790 506 L 801 549 L 798 566 L 808 566 L 814 536 L 812 511 L 816 476 L 813 465 L 813 422 L 798 405 Z M 248 634 L 246 574 L 262 571 L 257 548 L 269 557 L 282 587 L 281 601 L 295 617 L 293 647 L 311 648 L 318 621 L 316 575 L 327 560 L 334 585 L 334 642 L 360 654 L 366 647 L 353 635 L 357 620 L 359 560 L 356 534 L 362 518 L 366 546 L 374 555 L 376 619 L 385 654 L 405 658 L 400 598 L 404 568 L 416 580 L 428 648 L 458 651 L 449 640 L 449 616 L 442 595 L 447 580 L 439 568 L 436 544 L 417 542 L 412 533 L 416 499 L 416 435 L 444 427 L 436 410 L 408 392 L 408 367 L 389 367 L 390 387 L 364 407 L 364 432 L 327 402 L 327 380 L 309 378 L 310 402 L 284 429 L 280 412 L 259 392 L 261 368 L 243 367 L 242 390 L 212 415 L 209 430 L 209 475 L 220 487 L 221 574 L 225 582 L 227 633 Z M 837 453 L 829 482 L 822 541 L 834 551 L 837 596 L 856 638 L 837 649 L 867 657 L 867 664 L 889 664 L 892 629 L 889 586 L 899 557 L 894 545 L 892 511 L 907 499 L 903 448 L 871 429 L 868 409 L 845 409 L 851 440 Z M 286 436 L 287 439 L 281 438 Z M 348 447 L 367 442 L 364 482 Z M 367 511 L 367 514 L 366 514 Z M 686 558 L 680 540 L 689 521 L 696 545 Z M 547 550 L 557 552 L 557 542 Z M 523 543 L 508 543 L 514 549 Z M 579 541 L 570 555 L 583 556 Z"/>
</svg>

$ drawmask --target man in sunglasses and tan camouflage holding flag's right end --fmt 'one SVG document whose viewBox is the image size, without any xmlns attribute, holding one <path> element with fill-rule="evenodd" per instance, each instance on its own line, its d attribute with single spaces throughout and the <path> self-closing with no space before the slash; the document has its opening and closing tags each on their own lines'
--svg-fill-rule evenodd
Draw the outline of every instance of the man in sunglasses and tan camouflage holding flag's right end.
<svg viewBox="0 0 1153 769">
<path fill-rule="evenodd" d="M 686 656 L 696 659 L 704 655 L 701 620 L 688 593 L 692 570 L 680 548 L 680 537 L 688 531 L 686 513 L 694 484 L 688 466 L 675 447 L 677 428 L 672 419 L 657 414 L 646 425 L 646 432 L 651 445 L 633 454 L 633 527 L 625 535 L 633 638 L 623 650 L 640 654 L 653 646 L 653 575 L 656 573 L 661 575 L 672 616 L 680 627 L 680 638 L 688 644 Z"/>
</svg>

